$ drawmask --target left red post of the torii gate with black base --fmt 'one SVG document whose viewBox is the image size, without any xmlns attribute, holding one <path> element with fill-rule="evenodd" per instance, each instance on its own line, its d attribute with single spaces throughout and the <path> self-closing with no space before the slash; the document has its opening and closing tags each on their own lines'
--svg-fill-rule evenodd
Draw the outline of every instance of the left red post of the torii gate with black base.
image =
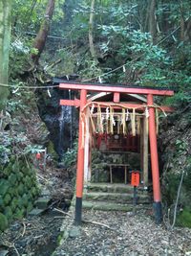
<svg viewBox="0 0 191 256">
<path fill-rule="evenodd" d="M 78 135 L 78 151 L 77 151 L 77 173 L 76 173 L 76 201 L 75 201 L 75 224 L 81 224 L 82 214 L 82 196 L 84 182 L 84 124 L 81 119 L 81 113 L 84 105 L 86 105 L 87 90 L 82 89 L 80 92 L 80 110 L 79 110 L 79 135 Z"/>
</svg>

